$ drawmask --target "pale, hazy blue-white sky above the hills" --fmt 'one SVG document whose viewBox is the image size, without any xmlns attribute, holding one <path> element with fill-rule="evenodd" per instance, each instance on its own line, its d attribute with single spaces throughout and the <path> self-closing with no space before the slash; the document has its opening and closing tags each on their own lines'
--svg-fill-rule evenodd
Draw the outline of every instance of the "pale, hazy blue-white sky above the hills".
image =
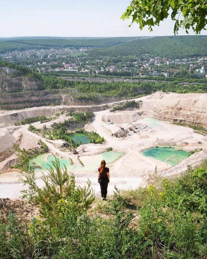
<svg viewBox="0 0 207 259">
<path fill-rule="evenodd" d="M 2 3 L 1 3 L 2 2 Z M 0 0 L 0 37 L 127 37 L 173 35 L 174 22 L 167 20 L 153 32 L 121 20 L 128 0 Z M 195 34 L 189 30 L 189 34 Z M 207 35 L 207 31 L 202 31 Z M 180 29 L 179 35 L 186 35 Z"/>
</svg>

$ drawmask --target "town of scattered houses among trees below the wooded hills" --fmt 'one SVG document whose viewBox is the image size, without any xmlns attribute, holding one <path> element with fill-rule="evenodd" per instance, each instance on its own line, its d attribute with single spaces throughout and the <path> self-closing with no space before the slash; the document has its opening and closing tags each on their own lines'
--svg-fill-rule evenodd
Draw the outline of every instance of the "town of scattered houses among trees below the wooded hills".
<svg viewBox="0 0 207 259">
<path fill-rule="evenodd" d="M 2 60 L 54 75 L 106 75 L 130 77 L 207 78 L 207 57 L 167 59 L 142 54 L 117 62 L 110 56 L 100 59 L 88 56 L 91 47 L 12 51 L 0 55 Z M 74 56 L 75 54 L 75 56 Z"/>
</svg>

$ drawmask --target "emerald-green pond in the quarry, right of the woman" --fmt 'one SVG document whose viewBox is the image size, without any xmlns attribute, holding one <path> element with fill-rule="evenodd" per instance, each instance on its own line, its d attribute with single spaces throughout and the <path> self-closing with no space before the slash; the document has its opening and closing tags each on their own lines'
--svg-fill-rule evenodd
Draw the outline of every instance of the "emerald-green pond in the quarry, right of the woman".
<svg viewBox="0 0 207 259">
<path fill-rule="evenodd" d="M 188 152 L 179 150 L 179 147 L 153 147 L 142 152 L 143 155 L 175 166 L 188 157 Z"/>
</svg>

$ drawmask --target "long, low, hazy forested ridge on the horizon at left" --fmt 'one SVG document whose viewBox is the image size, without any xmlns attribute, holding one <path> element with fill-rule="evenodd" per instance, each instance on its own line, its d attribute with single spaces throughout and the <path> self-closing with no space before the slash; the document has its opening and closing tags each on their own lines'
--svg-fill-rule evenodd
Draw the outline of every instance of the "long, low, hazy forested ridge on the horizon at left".
<svg viewBox="0 0 207 259">
<path fill-rule="evenodd" d="M 68 47 L 105 48 L 116 46 L 140 37 L 112 38 L 61 38 L 61 37 L 14 37 L 0 38 L 0 53 L 7 51 L 23 51 L 27 49 L 48 49 Z"/>
</svg>

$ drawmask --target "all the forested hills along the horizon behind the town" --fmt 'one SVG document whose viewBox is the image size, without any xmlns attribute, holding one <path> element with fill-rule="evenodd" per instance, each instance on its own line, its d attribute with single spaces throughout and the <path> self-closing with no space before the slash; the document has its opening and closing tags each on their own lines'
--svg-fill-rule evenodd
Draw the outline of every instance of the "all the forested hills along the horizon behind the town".
<svg viewBox="0 0 207 259">
<path fill-rule="evenodd" d="M 91 57 L 110 56 L 141 56 L 146 53 L 153 56 L 171 59 L 188 58 L 206 55 L 207 36 L 160 36 L 140 39 L 141 37 L 114 37 L 114 38 L 52 38 L 28 39 L 10 38 L 0 40 L 0 53 L 6 51 L 23 51 L 26 49 L 47 48 L 95 48 L 88 53 Z"/>
</svg>

